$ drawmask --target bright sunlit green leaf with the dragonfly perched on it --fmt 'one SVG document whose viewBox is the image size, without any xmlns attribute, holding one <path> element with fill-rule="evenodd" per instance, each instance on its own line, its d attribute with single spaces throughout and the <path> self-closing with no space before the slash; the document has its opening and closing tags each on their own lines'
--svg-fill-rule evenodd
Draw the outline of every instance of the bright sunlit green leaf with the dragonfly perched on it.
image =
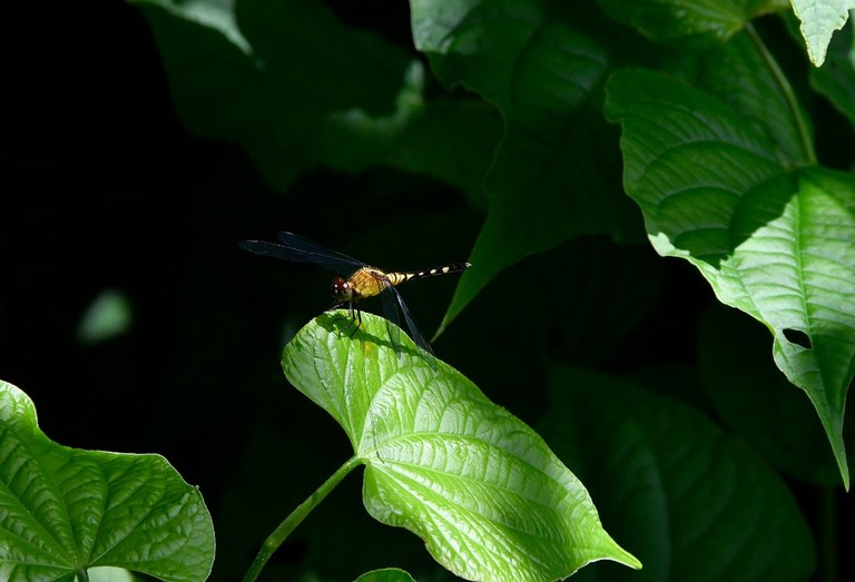
<svg viewBox="0 0 855 582">
<path fill-rule="evenodd" d="M 386 320 L 345 312 L 286 346 L 288 381 L 345 430 L 366 465 L 363 500 L 455 574 L 483 581 L 566 578 L 594 560 L 639 568 L 602 530 L 582 484 L 530 427 Z"/>
</svg>

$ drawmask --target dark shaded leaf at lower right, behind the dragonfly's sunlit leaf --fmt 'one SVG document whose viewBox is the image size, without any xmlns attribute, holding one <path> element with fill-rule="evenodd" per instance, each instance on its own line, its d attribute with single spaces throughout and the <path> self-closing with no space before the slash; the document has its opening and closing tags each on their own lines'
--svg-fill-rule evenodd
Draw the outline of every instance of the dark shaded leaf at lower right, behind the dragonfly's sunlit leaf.
<svg viewBox="0 0 855 582">
<path fill-rule="evenodd" d="M 582 580 L 808 579 L 810 530 L 780 477 L 738 438 L 627 381 L 561 367 L 549 384 L 543 434 L 645 563 L 640 572 L 597 564 Z"/>
</svg>

